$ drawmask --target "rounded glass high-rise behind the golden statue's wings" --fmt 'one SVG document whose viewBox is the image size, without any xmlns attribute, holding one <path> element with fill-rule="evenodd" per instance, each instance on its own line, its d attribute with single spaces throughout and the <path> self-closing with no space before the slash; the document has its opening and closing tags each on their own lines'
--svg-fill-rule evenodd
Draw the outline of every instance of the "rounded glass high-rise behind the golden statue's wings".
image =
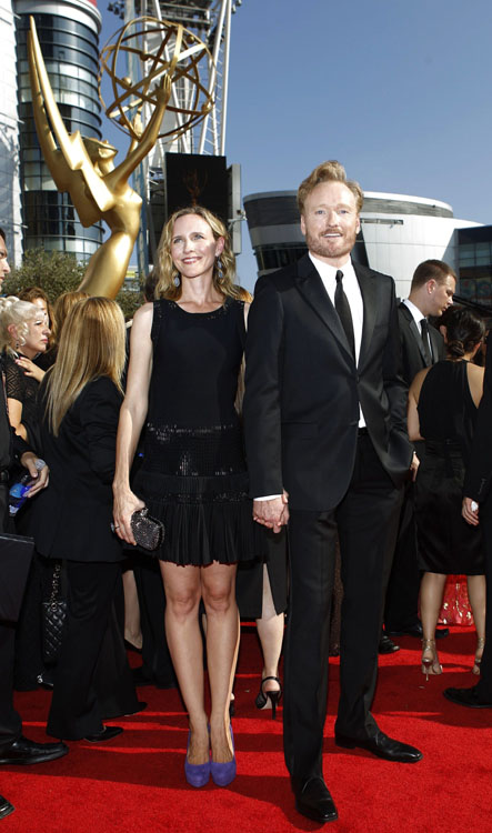
<svg viewBox="0 0 492 833">
<path fill-rule="evenodd" d="M 36 133 L 27 59 L 29 17 L 38 30 L 54 99 L 69 133 L 101 139 L 98 96 L 99 31 L 96 0 L 18 0 L 17 61 L 24 249 L 63 251 L 88 260 L 102 242 L 102 225 L 84 229 L 70 194 L 60 193 L 42 160 Z"/>
</svg>

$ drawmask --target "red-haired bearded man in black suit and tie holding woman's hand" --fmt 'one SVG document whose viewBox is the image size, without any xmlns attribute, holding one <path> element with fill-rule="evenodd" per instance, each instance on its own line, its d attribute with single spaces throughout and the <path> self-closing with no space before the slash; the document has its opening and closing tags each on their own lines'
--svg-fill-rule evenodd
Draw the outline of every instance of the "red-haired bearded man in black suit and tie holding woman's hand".
<svg viewBox="0 0 492 833">
<path fill-rule="evenodd" d="M 257 521 L 289 521 L 284 753 L 303 815 L 337 819 L 323 781 L 337 531 L 344 589 L 335 743 L 390 761 L 419 750 L 369 709 L 378 671 L 385 554 L 413 449 L 399 377 L 393 280 L 352 263 L 363 195 L 339 162 L 298 192 L 309 253 L 260 278 L 249 314 L 244 428 Z"/>
</svg>

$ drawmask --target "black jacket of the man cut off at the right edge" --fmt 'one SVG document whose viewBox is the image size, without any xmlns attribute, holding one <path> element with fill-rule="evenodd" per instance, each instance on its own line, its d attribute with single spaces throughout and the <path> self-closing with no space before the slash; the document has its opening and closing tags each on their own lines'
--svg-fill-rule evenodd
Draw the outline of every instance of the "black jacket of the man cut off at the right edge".
<svg viewBox="0 0 492 833">
<path fill-rule="evenodd" d="M 483 395 L 479 405 L 463 495 L 484 501 L 492 482 L 492 337 L 486 340 Z"/>
</svg>

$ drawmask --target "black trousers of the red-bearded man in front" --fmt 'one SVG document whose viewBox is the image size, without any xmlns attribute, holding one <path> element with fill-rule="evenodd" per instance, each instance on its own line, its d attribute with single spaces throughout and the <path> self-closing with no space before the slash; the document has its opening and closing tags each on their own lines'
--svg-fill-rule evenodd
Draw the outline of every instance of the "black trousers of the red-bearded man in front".
<svg viewBox="0 0 492 833">
<path fill-rule="evenodd" d="M 325 512 L 291 511 L 283 736 L 285 763 L 294 777 L 322 774 L 337 530 L 343 582 L 337 732 L 364 739 L 376 731 L 369 710 L 378 673 L 384 575 L 400 504 L 401 490 L 383 470 L 369 436 L 362 435 L 342 502 Z"/>
</svg>

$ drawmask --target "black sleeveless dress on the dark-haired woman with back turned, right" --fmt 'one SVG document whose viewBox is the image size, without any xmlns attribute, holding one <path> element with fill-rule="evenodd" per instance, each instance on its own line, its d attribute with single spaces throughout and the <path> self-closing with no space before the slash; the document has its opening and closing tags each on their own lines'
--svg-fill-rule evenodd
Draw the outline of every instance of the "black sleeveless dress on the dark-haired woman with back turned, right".
<svg viewBox="0 0 492 833">
<path fill-rule="evenodd" d="M 482 533 L 461 515 L 463 479 L 478 409 L 465 361 L 441 361 L 425 377 L 419 400 L 425 454 L 415 481 L 419 568 L 431 573 L 481 575 Z"/>
</svg>

